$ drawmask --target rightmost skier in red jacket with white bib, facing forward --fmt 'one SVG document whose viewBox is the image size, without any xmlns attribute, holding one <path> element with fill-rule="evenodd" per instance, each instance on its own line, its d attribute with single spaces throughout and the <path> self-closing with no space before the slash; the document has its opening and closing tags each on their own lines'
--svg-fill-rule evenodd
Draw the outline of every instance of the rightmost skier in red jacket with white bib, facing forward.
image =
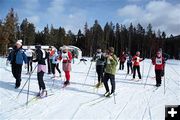
<svg viewBox="0 0 180 120">
<path fill-rule="evenodd" d="M 156 56 L 152 58 L 152 64 L 155 65 L 156 87 L 159 87 L 161 86 L 161 75 L 165 64 L 165 59 L 162 57 L 160 51 L 158 51 Z"/>
</svg>

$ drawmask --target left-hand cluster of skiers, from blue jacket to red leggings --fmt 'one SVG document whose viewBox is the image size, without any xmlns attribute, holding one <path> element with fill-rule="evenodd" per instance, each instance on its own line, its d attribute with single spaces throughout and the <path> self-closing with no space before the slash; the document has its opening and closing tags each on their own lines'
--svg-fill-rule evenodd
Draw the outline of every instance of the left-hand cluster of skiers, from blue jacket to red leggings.
<svg viewBox="0 0 180 120">
<path fill-rule="evenodd" d="M 46 60 L 50 68 L 50 73 L 52 71 L 53 77 L 55 77 L 55 68 L 60 74 L 59 62 L 62 60 L 63 71 L 65 72 L 66 81 L 64 85 L 70 84 L 70 71 L 71 71 L 71 60 L 72 54 L 68 50 L 67 46 L 60 48 L 60 52 L 56 48 L 51 47 L 50 51 L 45 51 L 41 48 L 41 45 L 35 46 L 35 51 L 31 50 L 30 47 L 25 51 L 22 48 L 22 40 L 18 40 L 13 50 L 9 53 L 7 57 L 7 64 L 10 62 L 12 68 L 12 74 L 16 79 L 15 88 L 19 88 L 21 85 L 21 74 L 23 62 L 25 63 L 25 68 L 28 68 L 27 74 L 31 75 L 34 71 L 32 68 L 32 62 L 37 62 L 37 80 L 39 85 L 39 92 L 37 96 L 45 97 L 47 96 L 46 85 L 44 83 L 44 73 L 46 73 Z M 48 61 L 49 60 L 49 61 Z M 50 62 L 50 63 L 49 63 Z M 36 68 L 35 67 L 35 68 Z M 34 69 L 35 69 L 34 68 Z"/>
</svg>

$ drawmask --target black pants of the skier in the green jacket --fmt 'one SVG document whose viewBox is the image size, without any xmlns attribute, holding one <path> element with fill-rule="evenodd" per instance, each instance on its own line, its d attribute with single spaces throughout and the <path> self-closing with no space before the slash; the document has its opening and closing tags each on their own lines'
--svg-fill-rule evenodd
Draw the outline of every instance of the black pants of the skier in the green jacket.
<svg viewBox="0 0 180 120">
<path fill-rule="evenodd" d="M 105 73 L 104 74 L 104 86 L 106 89 L 106 92 L 109 92 L 109 86 L 108 86 L 108 80 L 110 79 L 111 82 L 111 93 L 115 92 L 115 75 Z"/>
</svg>

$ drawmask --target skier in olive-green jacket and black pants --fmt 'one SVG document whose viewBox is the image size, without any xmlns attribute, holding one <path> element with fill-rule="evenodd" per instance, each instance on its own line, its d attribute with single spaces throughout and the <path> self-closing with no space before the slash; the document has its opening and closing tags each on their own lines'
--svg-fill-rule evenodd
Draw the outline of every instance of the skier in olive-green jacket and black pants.
<svg viewBox="0 0 180 120">
<path fill-rule="evenodd" d="M 115 92 L 115 73 L 118 60 L 114 54 L 114 48 L 109 47 L 106 54 L 106 63 L 105 63 L 105 74 L 104 74 L 104 86 L 106 89 L 105 97 L 109 97 Z M 108 80 L 111 82 L 111 92 L 109 92 Z"/>
</svg>

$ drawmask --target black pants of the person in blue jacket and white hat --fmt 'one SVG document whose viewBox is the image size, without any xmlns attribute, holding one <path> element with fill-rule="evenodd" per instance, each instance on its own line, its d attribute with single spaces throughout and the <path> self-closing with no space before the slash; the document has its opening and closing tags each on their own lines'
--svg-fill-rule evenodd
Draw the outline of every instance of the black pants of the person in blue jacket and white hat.
<svg viewBox="0 0 180 120">
<path fill-rule="evenodd" d="M 16 79 L 15 86 L 19 87 L 21 85 L 21 72 L 22 72 L 22 64 L 12 63 L 12 74 Z"/>
</svg>

